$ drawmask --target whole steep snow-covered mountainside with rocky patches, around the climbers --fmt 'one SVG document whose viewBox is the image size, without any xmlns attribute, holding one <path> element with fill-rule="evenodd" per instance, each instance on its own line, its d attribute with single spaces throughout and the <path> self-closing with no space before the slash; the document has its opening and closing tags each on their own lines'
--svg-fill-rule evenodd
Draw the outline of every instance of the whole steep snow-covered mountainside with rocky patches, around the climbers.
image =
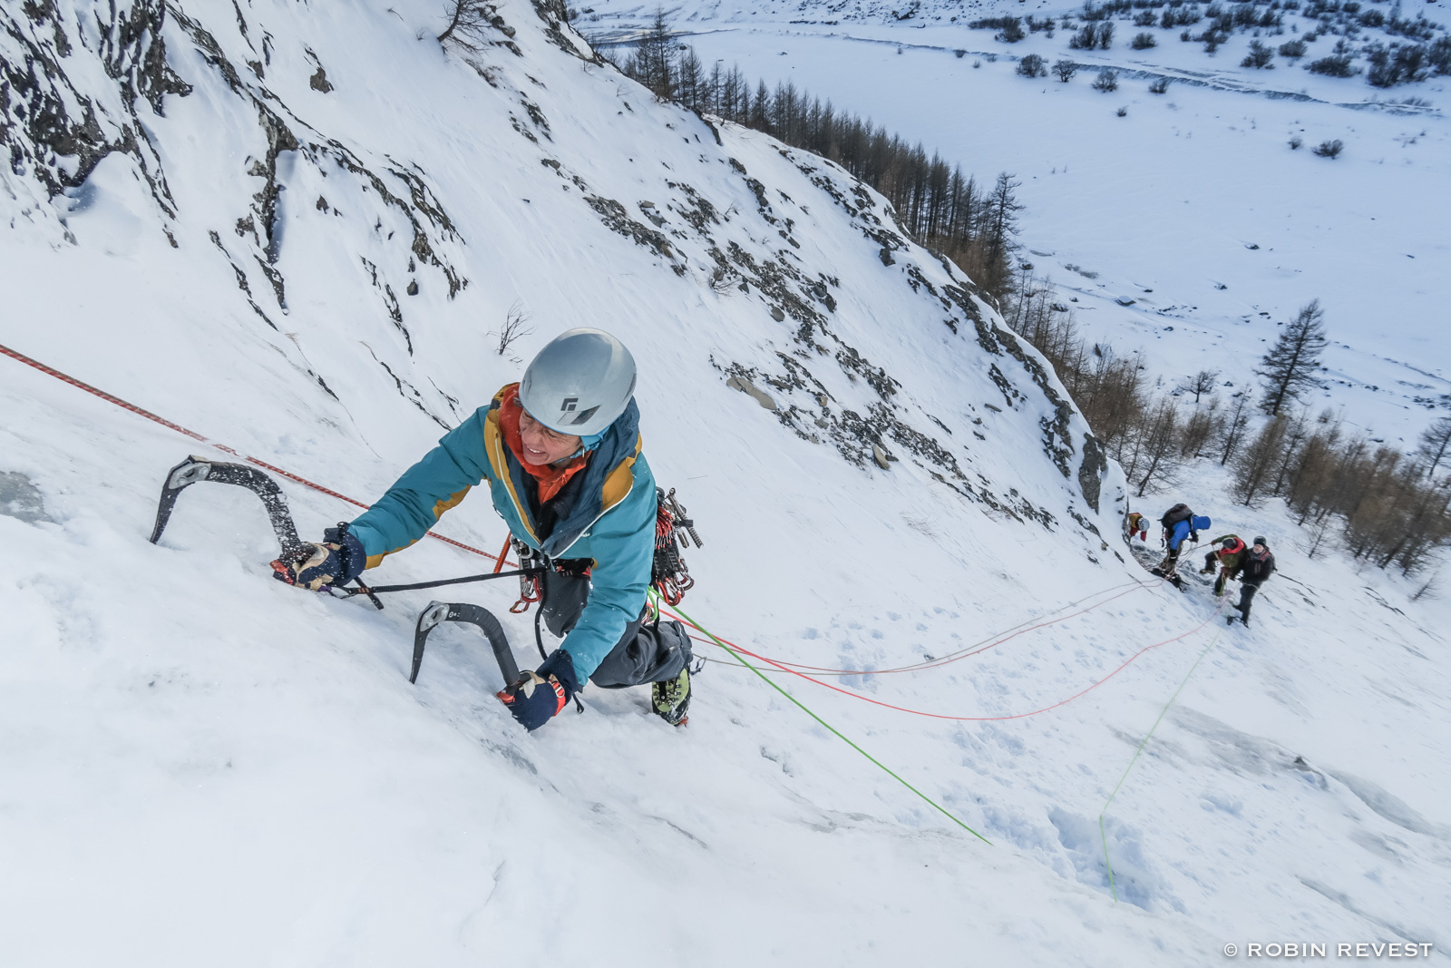
<svg viewBox="0 0 1451 968">
<path fill-rule="evenodd" d="M 6 964 L 1451 945 L 1444 605 L 1294 560 L 1225 630 L 1148 579 L 1058 379 L 879 196 L 656 103 L 550 3 L 440 46 L 443 6 L 0 1 L 0 344 L 232 448 L 0 358 Z M 836 691 L 768 673 L 991 845 L 714 646 L 686 729 L 586 689 L 527 736 L 469 628 L 409 685 L 429 592 L 271 581 L 251 495 L 190 488 L 147 543 L 193 451 L 374 498 L 575 325 L 641 364 L 707 541 L 689 614 L 817 669 Z M 355 514 L 281 483 L 305 538 Z M 1229 527 L 1293 556 L 1284 518 Z M 503 540 L 477 495 L 438 531 Z M 488 566 L 422 541 L 376 581 Z M 512 589 L 461 589 L 432 595 L 528 662 Z"/>
</svg>

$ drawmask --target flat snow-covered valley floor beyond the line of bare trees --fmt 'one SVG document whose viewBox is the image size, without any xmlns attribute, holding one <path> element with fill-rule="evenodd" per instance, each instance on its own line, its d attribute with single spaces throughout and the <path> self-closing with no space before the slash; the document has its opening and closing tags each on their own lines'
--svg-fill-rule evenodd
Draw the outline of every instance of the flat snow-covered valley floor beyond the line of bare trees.
<svg viewBox="0 0 1451 968">
<path fill-rule="evenodd" d="M 1275 327 L 1319 299 L 1333 344 L 1326 390 L 1309 403 L 1412 448 L 1451 395 L 1448 78 L 1378 90 L 1364 77 L 1310 74 L 1303 64 L 1329 54 L 1331 35 L 1299 65 L 1277 57 L 1274 70 L 1252 70 L 1239 67 L 1254 39 L 1245 32 L 1210 57 L 1181 42 L 1181 28 L 1148 28 L 1158 46 L 1135 51 L 1129 41 L 1145 28 L 1130 20 L 1113 22 L 1107 51 L 1069 49 L 1062 29 L 1004 44 L 965 26 L 1080 6 L 927 3 L 898 22 L 869 3 L 691 1 L 670 15 L 707 65 L 792 81 L 979 180 L 1013 173 L 1033 273 L 1077 300 L 1085 335 L 1142 348 L 1167 383 L 1219 369 L 1229 392 L 1255 385 Z M 580 29 L 607 39 L 633 36 L 654 12 L 628 1 L 591 9 Z M 1435 6 L 1425 12 L 1445 20 Z M 1315 25 L 1284 16 L 1284 35 L 1259 39 L 1274 46 Z M 1027 54 L 1080 71 L 1066 84 L 1029 80 L 1014 73 Z M 1091 89 L 1101 68 L 1119 71 L 1117 91 Z M 1162 96 L 1148 90 L 1156 78 L 1171 81 Z M 1291 136 L 1303 148 L 1291 149 Z M 1331 139 L 1345 144 L 1339 158 L 1310 154 Z"/>
</svg>

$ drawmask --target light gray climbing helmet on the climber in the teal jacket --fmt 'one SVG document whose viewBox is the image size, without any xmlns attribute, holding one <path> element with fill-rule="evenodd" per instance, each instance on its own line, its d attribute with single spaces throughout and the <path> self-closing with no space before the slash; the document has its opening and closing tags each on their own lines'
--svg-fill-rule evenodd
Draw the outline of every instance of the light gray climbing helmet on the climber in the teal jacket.
<svg viewBox="0 0 1451 968">
<path fill-rule="evenodd" d="M 591 437 L 625 412 L 634 382 L 625 344 L 604 329 L 567 329 L 524 370 L 519 403 L 550 430 Z"/>
</svg>

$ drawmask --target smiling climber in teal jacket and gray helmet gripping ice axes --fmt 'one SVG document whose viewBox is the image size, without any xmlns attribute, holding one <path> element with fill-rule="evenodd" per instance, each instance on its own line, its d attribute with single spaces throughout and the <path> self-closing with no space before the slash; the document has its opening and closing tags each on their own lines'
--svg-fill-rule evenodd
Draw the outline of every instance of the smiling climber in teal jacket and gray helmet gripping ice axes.
<svg viewBox="0 0 1451 968">
<path fill-rule="evenodd" d="M 509 533 L 546 556 L 543 620 L 564 641 L 519 688 L 499 692 L 537 730 L 585 681 L 651 685 L 665 721 L 691 701 L 691 641 L 676 623 L 646 624 L 656 488 L 640 441 L 634 357 L 601 329 L 570 329 L 540 350 L 519 383 L 495 393 L 347 527 L 277 576 L 319 591 L 342 585 L 424 537 L 488 480 Z"/>
</svg>

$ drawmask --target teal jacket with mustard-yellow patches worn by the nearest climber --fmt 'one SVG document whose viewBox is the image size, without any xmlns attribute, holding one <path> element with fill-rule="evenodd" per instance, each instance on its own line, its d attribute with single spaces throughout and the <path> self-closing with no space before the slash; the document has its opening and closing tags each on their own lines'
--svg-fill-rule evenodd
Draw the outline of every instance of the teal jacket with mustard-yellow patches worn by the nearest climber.
<svg viewBox="0 0 1451 968">
<path fill-rule="evenodd" d="M 353 521 L 367 567 L 418 541 L 469 489 L 489 482 L 493 509 L 514 537 L 551 559 L 592 559 L 589 599 L 563 649 L 583 684 L 640 617 L 654 560 L 654 476 L 640 441 L 634 401 L 593 441 L 589 463 L 550 501 L 554 527 L 540 524 L 525 495 L 525 470 L 499 428 L 505 386 L 403 472 L 377 504 Z"/>
</svg>

